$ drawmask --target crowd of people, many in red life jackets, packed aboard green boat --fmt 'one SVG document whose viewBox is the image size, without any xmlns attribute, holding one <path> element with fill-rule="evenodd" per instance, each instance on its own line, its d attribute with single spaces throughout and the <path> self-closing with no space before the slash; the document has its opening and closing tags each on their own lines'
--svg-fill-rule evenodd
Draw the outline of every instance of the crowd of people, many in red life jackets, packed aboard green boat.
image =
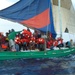
<svg viewBox="0 0 75 75">
<path fill-rule="evenodd" d="M 9 30 L 6 36 L 0 33 L 0 51 L 21 51 L 21 50 L 39 50 L 46 49 L 54 50 L 54 47 L 68 47 L 72 45 L 72 40 L 67 41 L 64 45 L 61 37 L 54 39 L 52 34 L 48 31 L 46 34 L 39 30 L 34 30 L 34 33 L 29 28 L 15 34 L 14 39 L 9 39 L 9 35 L 15 32 L 14 29 Z"/>
</svg>

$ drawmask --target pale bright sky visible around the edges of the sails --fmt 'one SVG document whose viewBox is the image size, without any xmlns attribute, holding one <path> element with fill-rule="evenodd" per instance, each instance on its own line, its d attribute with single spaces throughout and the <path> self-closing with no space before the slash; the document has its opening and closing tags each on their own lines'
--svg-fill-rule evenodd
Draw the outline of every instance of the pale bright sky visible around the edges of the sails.
<svg viewBox="0 0 75 75">
<path fill-rule="evenodd" d="M 13 5 L 17 1 L 19 1 L 19 0 L 0 0 L 0 10 Z M 73 2 L 73 5 L 75 6 L 75 0 L 72 0 L 72 2 Z M 25 28 L 25 26 L 23 26 L 19 23 L 11 22 L 11 21 L 0 18 L 0 32 L 6 33 L 6 32 L 8 32 L 9 29 L 15 29 L 16 31 L 19 31 L 24 28 Z"/>
</svg>

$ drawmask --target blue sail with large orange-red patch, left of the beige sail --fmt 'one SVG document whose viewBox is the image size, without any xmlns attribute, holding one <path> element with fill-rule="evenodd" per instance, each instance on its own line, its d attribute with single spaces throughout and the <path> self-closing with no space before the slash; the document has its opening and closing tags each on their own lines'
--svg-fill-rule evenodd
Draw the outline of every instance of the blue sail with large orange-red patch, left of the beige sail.
<svg viewBox="0 0 75 75">
<path fill-rule="evenodd" d="M 0 17 L 56 36 L 50 0 L 20 0 L 0 11 Z"/>
</svg>

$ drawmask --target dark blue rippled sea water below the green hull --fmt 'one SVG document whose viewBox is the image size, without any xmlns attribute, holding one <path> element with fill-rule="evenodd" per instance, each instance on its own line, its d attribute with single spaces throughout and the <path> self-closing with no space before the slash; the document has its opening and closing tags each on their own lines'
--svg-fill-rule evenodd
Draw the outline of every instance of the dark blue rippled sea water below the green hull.
<svg viewBox="0 0 75 75">
<path fill-rule="evenodd" d="M 75 75 L 75 56 L 0 61 L 0 75 Z"/>
</svg>

